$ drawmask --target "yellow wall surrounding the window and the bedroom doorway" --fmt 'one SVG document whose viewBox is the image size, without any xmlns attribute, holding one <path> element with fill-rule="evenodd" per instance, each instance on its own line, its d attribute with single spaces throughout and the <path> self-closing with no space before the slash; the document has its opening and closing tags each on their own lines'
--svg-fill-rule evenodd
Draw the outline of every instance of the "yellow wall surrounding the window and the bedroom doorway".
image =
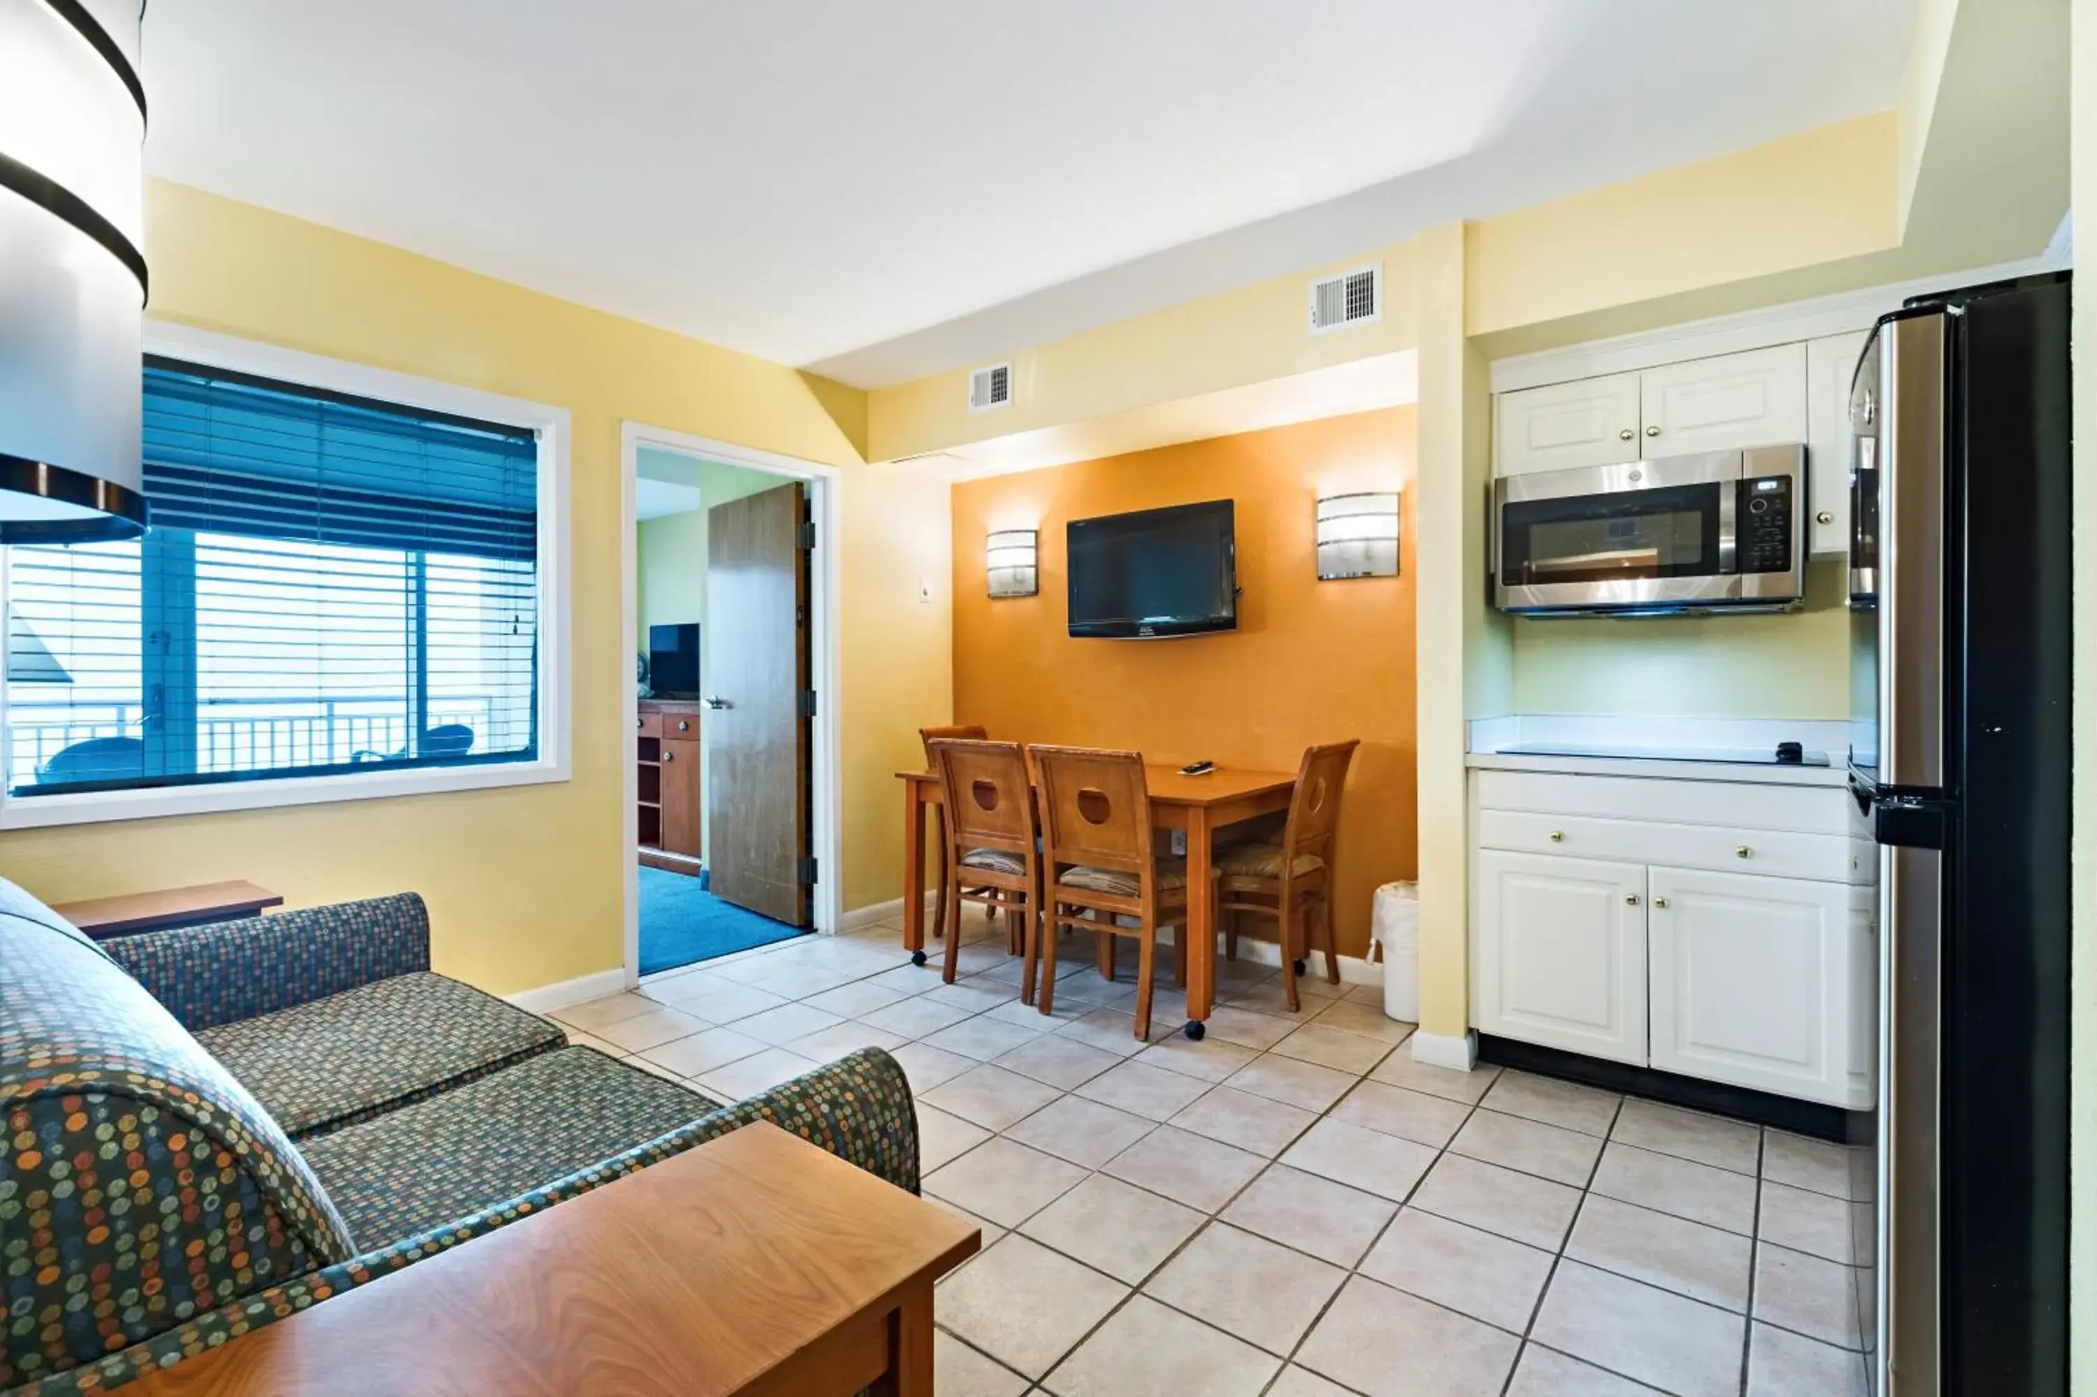
<svg viewBox="0 0 2097 1397">
<path fill-rule="evenodd" d="M 646 422 L 845 468 L 845 902 L 893 896 L 891 745 L 942 715 L 946 625 L 895 577 L 948 571 L 944 512 L 860 466 L 860 394 L 791 369 L 176 185 L 149 189 L 151 315 L 572 413 L 575 778 L 0 837 L 0 873 L 50 900 L 245 877 L 294 904 L 417 889 L 442 971 L 512 992 L 621 961 L 619 430 Z M 874 575 L 879 573 L 879 577 Z M 885 623 L 883 610 L 908 612 Z M 879 818 L 877 818 L 879 808 Z M 883 868 L 881 860 L 889 864 Z"/>
</svg>

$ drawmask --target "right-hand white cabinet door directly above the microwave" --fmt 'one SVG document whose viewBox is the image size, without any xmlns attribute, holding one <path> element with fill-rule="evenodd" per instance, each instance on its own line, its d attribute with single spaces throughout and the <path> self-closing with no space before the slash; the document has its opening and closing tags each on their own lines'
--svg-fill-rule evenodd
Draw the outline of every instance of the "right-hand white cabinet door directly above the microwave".
<svg viewBox="0 0 2097 1397">
<path fill-rule="evenodd" d="M 1638 405 L 1646 457 L 1806 440 L 1806 346 L 1646 369 Z"/>
</svg>

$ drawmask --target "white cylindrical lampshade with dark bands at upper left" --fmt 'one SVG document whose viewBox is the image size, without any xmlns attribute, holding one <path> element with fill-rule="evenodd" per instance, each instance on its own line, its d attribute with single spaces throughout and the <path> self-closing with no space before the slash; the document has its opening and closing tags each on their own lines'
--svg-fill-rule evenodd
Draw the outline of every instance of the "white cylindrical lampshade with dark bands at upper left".
<svg viewBox="0 0 2097 1397">
<path fill-rule="evenodd" d="M 145 531 L 140 13 L 0 4 L 0 543 Z"/>
</svg>

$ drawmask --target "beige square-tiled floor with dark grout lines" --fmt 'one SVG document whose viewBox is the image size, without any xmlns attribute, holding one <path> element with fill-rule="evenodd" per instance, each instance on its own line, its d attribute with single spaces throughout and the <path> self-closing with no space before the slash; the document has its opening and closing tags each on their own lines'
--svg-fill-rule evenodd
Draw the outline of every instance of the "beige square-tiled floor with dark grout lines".
<svg viewBox="0 0 2097 1397">
<path fill-rule="evenodd" d="M 942 1397 L 1854 1397 L 1843 1154 L 1585 1087 L 1411 1059 L 1369 986 L 1218 967 L 1204 1043 L 1063 952 L 1057 1013 L 967 923 L 803 938 L 577 1005 L 570 1036 L 744 1097 L 864 1045 L 918 1099 Z M 937 948 L 935 948 L 937 957 Z"/>
</svg>

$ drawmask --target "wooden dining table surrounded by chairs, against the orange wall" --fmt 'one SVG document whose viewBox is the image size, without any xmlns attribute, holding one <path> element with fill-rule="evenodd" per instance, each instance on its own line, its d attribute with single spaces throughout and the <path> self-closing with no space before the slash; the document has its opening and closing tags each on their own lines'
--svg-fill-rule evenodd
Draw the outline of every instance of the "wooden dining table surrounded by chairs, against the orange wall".
<svg viewBox="0 0 2097 1397">
<path fill-rule="evenodd" d="M 895 772 L 904 782 L 904 950 L 925 963 L 925 808 L 944 803 L 933 772 Z M 1214 833 L 1290 808 L 1296 772 L 1216 766 L 1187 776 L 1147 764 L 1151 824 L 1187 831 L 1187 1036 L 1202 1038 L 1216 1001 Z M 1105 969 L 1105 967 L 1103 967 Z"/>
</svg>

